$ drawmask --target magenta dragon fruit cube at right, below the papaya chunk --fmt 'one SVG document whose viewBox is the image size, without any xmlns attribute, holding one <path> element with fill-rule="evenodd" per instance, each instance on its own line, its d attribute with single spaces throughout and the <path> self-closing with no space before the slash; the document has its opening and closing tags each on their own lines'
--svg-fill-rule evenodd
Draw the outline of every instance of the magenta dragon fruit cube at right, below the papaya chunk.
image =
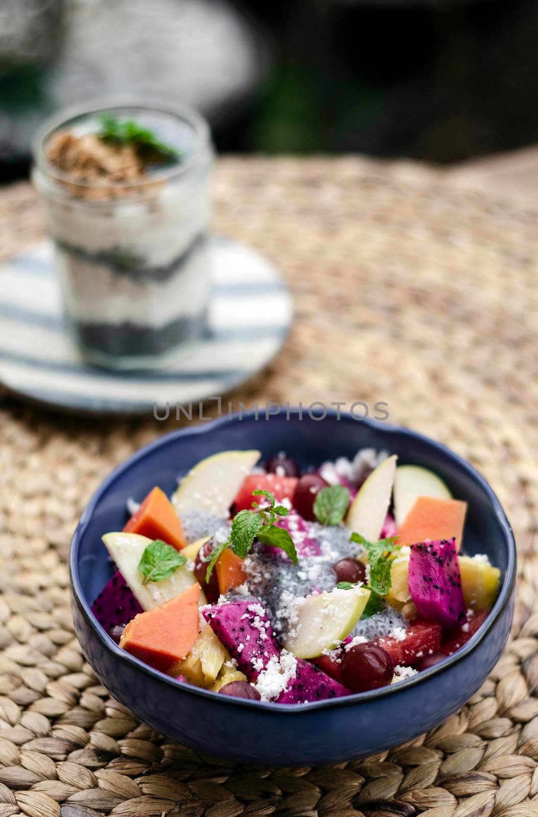
<svg viewBox="0 0 538 817">
<path fill-rule="evenodd" d="M 409 592 L 422 618 L 442 627 L 465 621 L 464 594 L 455 539 L 411 545 Z"/>
</svg>

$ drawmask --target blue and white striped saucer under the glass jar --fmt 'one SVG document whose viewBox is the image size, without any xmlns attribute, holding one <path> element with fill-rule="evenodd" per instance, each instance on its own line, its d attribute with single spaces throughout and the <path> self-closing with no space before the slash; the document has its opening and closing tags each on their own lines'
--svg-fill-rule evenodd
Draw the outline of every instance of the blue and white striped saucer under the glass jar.
<svg viewBox="0 0 538 817">
<path fill-rule="evenodd" d="M 276 355 L 293 310 L 275 267 L 253 249 L 215 238 L 212 266 L 206 336 L 176 364 L 114 373 L 83 362 L 62 319 L 52 243 L 34 244 L 0 266 L 0 383 L 83 413 L 152 413 L 225 395 Z"/>
</svg>

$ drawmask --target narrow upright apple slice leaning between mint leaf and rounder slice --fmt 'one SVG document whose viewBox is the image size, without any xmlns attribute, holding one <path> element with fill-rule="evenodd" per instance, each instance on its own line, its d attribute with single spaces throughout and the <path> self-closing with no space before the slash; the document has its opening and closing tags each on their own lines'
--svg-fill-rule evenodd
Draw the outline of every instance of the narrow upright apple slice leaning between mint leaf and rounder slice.
<svg viewBox="0 0 538 817">
<path fill-rule="evenodd" d="M 396 472 L 396 454 L 379 463 L 361 484 L 349 511 L 346 525 L 368 542 L 377 542 L 391 501 Z"/>
</svg>

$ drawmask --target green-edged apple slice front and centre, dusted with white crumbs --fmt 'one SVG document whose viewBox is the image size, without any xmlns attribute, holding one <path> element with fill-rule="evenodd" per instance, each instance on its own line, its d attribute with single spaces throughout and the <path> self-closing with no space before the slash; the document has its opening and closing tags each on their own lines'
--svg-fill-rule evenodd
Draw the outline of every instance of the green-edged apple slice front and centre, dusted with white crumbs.
<svg viewBox="0 0 538 817">
<path fill-rule="evenodd" d="M 298 605 L 298 621 L 292 625 L 285 648 L 299 659 L 315 659 L 334 650 L 352 632 L 365 609 L 370 590 L 351 587 L 307 596 Z"/>
</svg>

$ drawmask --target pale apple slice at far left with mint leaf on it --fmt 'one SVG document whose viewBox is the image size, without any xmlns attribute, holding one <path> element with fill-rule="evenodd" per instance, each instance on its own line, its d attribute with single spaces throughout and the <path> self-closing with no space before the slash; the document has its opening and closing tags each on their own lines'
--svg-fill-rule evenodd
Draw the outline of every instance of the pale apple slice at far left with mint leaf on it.
<svg viewBox="0 0 538 817">
<path fill-rule="evenodd" d="M 136 597 L 141 608 L 145 610 L 158 607 L 164 604 L 165 601 L 179 596 L 196 581 L 195 574 L 186 565 L 180 565 L 170 578 L 164 578 L 162 582 L 142 584 L 144 575 L 139 571 L 138 565 L 142 553 L 152 541 L 146 536 L 125 534 L 123 531 L 105 534 L 103 537 L 106 549 L 131 588 L 132 595 Z M 205 603 L 204 593 L 200 593 L 200 605 Z"/>
</svg>

